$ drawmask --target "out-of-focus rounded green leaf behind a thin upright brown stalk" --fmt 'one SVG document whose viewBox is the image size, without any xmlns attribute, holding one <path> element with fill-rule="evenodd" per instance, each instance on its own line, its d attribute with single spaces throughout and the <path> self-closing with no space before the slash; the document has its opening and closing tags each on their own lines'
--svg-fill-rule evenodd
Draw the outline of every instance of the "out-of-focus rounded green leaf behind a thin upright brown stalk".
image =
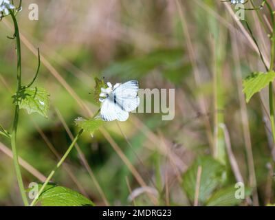
<svg viewBox="0 0 275 220">
<path fill-rule="evenodd" d="M 186 173 L 184 173 L 182 182 L 182 186 L 191 201 L 194 201 L 195 198 L 197 170 L 199 166 L 201 166 L 199 202 L 205 203 L 214 189 L 221 183 L 224 167 L 217 160 L 212 159 L 212 157 L 197 158 Z"/>
</svg>

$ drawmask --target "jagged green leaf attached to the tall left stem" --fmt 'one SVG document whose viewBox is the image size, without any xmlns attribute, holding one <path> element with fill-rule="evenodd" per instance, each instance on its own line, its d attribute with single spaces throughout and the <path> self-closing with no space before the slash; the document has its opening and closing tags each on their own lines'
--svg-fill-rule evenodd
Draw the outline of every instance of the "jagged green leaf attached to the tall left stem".
<svg viewBox="0 0 275 220">
<path fill-rule="evenodd" d="M 21 89 L 12 97 L 20 109 L 27 110 L 29 114 L 36 112 L 47 118 L 49 96 L 50 94 L 45 89 L 35 87 Z"/>
</svg>

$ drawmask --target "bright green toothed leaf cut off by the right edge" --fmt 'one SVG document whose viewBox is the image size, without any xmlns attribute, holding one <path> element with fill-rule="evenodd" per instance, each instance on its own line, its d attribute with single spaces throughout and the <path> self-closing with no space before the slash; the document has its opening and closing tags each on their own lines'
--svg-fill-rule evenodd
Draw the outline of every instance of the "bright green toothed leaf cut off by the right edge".
<svg viewBox="0 0 275 220">
<path fill-rule="evenodd" d="M 275 78 L 275 72 L 255 72 L 243 80 L 243 93 L 245 94 L 246 102 L 261 89 L 267 87 Z"/>
</svg>

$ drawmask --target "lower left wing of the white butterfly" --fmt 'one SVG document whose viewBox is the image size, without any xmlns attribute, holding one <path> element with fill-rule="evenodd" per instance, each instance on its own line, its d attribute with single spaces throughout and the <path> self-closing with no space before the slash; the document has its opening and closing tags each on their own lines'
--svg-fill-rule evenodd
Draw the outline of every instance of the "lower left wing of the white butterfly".
<svg viewBox="0 0 275 220">
<path fill-rule="evenodd" d="M 104 121 L 118 120 L 124 122 L 129 118 L 129 113 L 124 111 L 120 105 L 115 104 L 113 98 L 109 96 L 102 102 L 100 116 Z"/>
</svg>

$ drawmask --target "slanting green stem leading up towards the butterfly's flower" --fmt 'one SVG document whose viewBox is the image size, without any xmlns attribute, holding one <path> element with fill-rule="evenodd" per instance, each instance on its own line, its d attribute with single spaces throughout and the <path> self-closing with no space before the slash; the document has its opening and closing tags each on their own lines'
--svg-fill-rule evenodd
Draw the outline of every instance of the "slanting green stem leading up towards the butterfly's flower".
<svg viewBox="0 0 275 220">
<path fill-rule="evenodd" d="M 32 203 L 30 204 L 30 206 L 34 206 L 34 204 L 36 203 L 37 199 L 39 198 L 39 196 L 41 195 L 41 193 L 43 192 L 43 190 L 45 189 L 45 187 L 47 186 L 47 184 L 50 182 L 50 180 L 52 179 L 52 177 L 54 176 L 54 173 L 56 173 L 56 170 L 63 164 L 63 162 L 65 161 L 65 159 L 67 158 L 67 156 L 69 155 L 69 153 L 72 151 L 72 148 L 74 148 L 74 145 L 76 144 L 78 138 L 80 137 L 80 135 L 83 133 L 83 129 L 81 129 L 78 134 L 76 135 L 76 137 L 74 137 L 74 140 L 72 142 L 72 144 L 69 146 L 69 148 L 67 149 L 66 153 L 63 155 L 63 157 L 61 158 L 61 160 L 58 162 L 58 164 L 56 164 L 56 167 L 52 170 L 52 172 L 50 173 L 50 175 L 47 177 L 47 179 L 45 180 L 43 186 L 41 187 L 41 189 L 39 190 L 39 192 L 37 193 L 36 197 L 34 200 L 32 200 Z"/>
</svg>

